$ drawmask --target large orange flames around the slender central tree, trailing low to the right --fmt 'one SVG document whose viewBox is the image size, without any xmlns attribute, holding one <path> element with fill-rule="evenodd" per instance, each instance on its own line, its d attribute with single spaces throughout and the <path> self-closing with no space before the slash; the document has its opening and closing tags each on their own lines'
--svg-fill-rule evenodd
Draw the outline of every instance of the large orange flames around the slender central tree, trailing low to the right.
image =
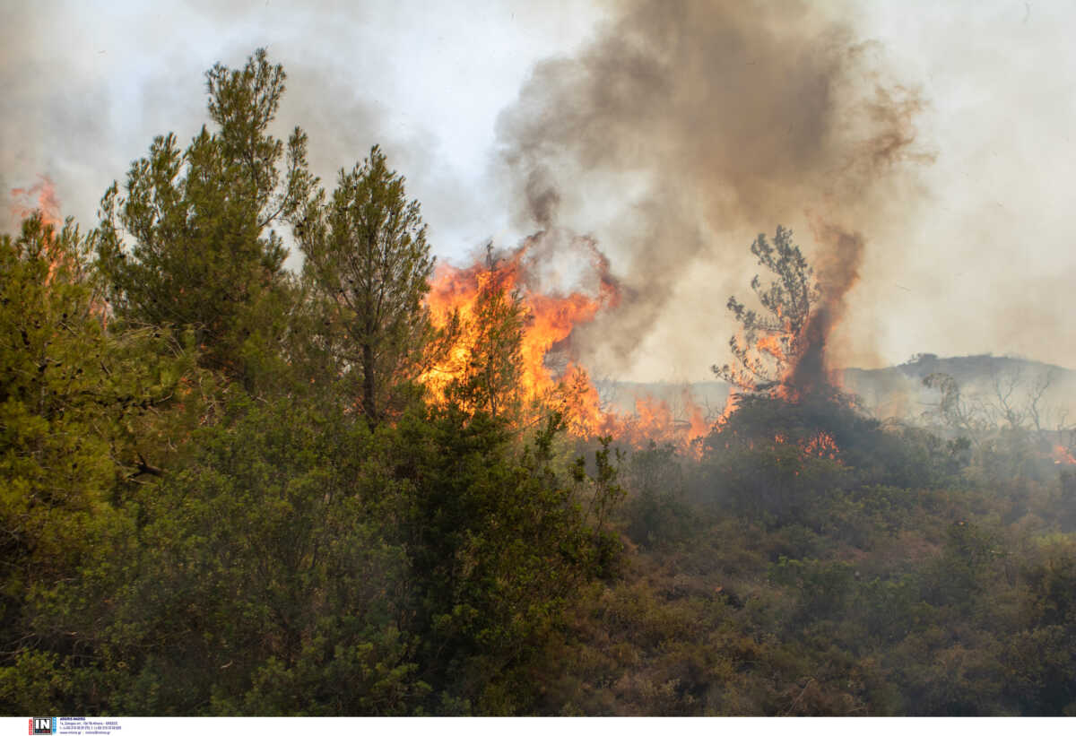
<svg viewBox="0 0 1076 736">
<path fill-rule="evenodd" d="M 550 273 L 549 265 L 565 259 L 579 265 L 577 278 L 567 286 L 551 284 L 563 282 L 564 274 Z M 597 244 L 563 231 L 539 232 L 502 257 L 487 254 L 485 263 L 437 269 L 426 298 L 430 319 L 440 328 L 457 320 L 459 334 L 447 357 L 420 379 L 435 402 L 445 400 L 448 387 L 472 359 L 480 297 L 491 288 L 518 295 L 526 311 L 519 390 L 527 407 L 561 411 L 572 436 L 611 435 L 636 447 L 650 441 L 688 445 L 709 431 L 711 423 L 686 392 L 685 419 L 677 419 L 666 401 L 648 396 L 637 399 L 631 415 L 603 406 L 590 372 L 574 355 L 571 339 L 577 327 L 614 308 L 620 291 Z"/>
</svg>

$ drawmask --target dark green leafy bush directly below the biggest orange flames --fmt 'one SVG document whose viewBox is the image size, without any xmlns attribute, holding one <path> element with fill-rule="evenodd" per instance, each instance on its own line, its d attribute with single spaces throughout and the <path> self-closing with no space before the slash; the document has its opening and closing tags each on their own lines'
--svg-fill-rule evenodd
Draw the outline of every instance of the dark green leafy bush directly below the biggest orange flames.
<svg viewBox="0 0 1076 736">
<path fill-rule="evenodd" d="M 499 688 L 562 623 L 572 593 L 608 572 L 605 530 L 620 495 L 608 449 L 595 475 L 553 465 L 557 417 L 521 456 L 504 420 L 450 406 L 400 427 L 399 471 L 414 483 L 408 547 L 427 681 L 481 712 L 515 712 L 527 691 Z M 496 676 L 491 678 L 492 674 Z"/>
</svg>

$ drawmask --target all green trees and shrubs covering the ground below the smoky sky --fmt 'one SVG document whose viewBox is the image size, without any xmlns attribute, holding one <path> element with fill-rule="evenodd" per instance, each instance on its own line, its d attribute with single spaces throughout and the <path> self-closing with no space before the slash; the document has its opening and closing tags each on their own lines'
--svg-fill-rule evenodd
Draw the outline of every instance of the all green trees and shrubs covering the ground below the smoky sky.
<svg viewBox="0 0 1076 736">
<path fill-rule="evenodd" d="M 686 450 L 577 442 L 519 421 L 494 280 L 431 400 L 419 207 L 376 147 L 314 193 L 283 82 L 215 67 L 216 129 L 158 139 L 96 230 L 0 239 L 0 710 L 1076 714 L 1076 473 L 1037 404 L 987 427 L 935 378 L 926 428 L 762 390 Z M 753 252 L 769 316 L 731 307 L 794 356 L 810 270 L 783 229 Z"/>
</svg>

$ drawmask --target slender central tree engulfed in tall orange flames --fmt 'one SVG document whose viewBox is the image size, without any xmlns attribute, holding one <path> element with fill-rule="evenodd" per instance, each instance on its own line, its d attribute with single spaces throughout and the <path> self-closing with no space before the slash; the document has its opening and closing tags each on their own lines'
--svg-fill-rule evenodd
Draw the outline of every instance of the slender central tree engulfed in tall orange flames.
<svg viewBox="0 0 1076 736">
<path fill-rule="evenodd" d="M 458 330 L 445 354 L 421 378 L 437 404 L 449 394 L 465 406 L 496 415 L 518 408 L 561 412 L 576 435 L 609 434 L 612 417 L 600 409 L 586 371 L 563 352 L 575 328 L 617 299 L 608 263 L 586 238 L 565 241 L 560 233 L 539 232 L 501 254 L 486 250 L 484 259 L 467 268 L 439 266 L 426 302 L 439 328 L 457 321 Z M 556 247 L 582 254 L 597 281 L 568 294 L 543 287 L 540 264 Z M 563 368 L 551 354 L 565 358 Z"/>
</svg>

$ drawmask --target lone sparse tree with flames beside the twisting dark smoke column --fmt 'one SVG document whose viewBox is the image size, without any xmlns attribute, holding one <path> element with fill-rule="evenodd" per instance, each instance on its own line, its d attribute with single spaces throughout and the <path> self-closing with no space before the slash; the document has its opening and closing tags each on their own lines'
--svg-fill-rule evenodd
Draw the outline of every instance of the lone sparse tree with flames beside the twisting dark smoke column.
<svg viewBox="0 0 1076 736">
<path fill-rule="evenodd" d="M 751 253 L 776 279 L 765 287 L 759 275 L 751 280 L 765 311 L 728 297 L 728 310 L 740 323 L 728 341 L 736 363 L 712 370 L 736 392 L 787 396 L 792 371 L 809 348 L 807 327 L 821 293 L 813 270 L 792 242 L 792 230 L 778 225 L 773 242 L 760 233 Z"/>
</svg>

